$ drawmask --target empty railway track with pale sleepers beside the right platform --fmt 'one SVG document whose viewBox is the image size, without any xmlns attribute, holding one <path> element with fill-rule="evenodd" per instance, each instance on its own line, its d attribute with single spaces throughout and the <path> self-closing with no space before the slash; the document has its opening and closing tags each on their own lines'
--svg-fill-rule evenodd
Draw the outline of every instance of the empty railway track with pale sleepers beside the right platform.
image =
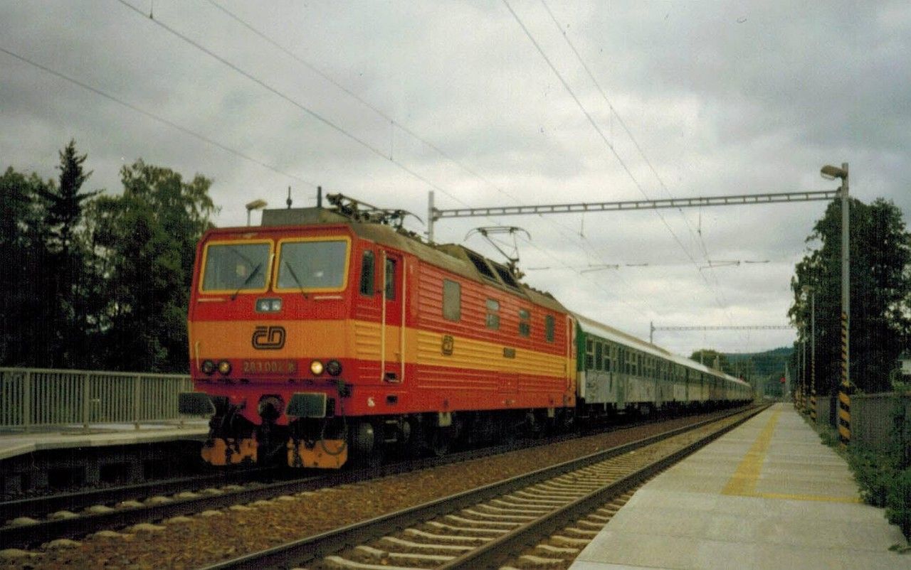
<svg viewBox="0 0 911 570">
<path fill-rule="evenodd" d="M 637 485 L 762 409 L 620 445 L 205 570 L 561 567 Z"/>
</svg>

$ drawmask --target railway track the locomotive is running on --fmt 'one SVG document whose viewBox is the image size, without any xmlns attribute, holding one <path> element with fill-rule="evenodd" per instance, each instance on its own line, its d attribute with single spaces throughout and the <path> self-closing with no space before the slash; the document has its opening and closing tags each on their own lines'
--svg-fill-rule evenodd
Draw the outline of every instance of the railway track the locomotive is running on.
<svg viewBox="0 0 911 570">
<path fill-rule="evenodd" d="M 611 425 L 609 429 L 630 429 L 653 423 L 655 420 Z M 77 538 L 103 529 L 163 520 L 279 495 L 291 495 L 438 465 L 460 463 L 487 455 L 558 443 L 576 436 L 569 434 L 520 440 L 508 445 L 474 449 L 439 458 L 413 459 L 369 469 L 335 472 L 332 475 L 320 472 L 320 475 L 277 482 L 263 482 L 263 477 L 268 481 L 272 475 L 280 475 L 278 472 L 251 469 L 243 473 L 226 472 L 204 477 L 183 477 L 6 501 L 0 503 L 0 524 L 5 524 L 0 526 L 0 545 L 26 548 L 56 538 Z"/>
</svg>

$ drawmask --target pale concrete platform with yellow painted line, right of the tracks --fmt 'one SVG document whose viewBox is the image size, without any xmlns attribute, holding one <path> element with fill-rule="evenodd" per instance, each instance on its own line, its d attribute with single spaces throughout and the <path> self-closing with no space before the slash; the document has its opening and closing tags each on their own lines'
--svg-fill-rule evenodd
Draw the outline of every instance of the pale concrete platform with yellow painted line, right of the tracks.
<svg viewBox="0 0 911 570">
<path fill-rule="evenodd" d="M 844 460 L 776 404 L 640 488 L 570 570 L 909 568 Z"/>
</svg>

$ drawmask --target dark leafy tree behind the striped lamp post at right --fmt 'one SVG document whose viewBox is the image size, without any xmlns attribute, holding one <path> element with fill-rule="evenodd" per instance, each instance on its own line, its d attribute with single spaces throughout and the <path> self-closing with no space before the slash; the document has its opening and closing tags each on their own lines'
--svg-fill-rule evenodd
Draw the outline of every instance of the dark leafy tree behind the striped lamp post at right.
<svg viewBox="0 0 911 570">
<path fill-rule="evenodd" d="M 881 198 L 866 205 L 852 198 L 851 380 L 874 393 L 890 389 L 889 372 L 911 333 L 911 235 L 901 210 Z M 816 391 L 834 394 L 841 381 L 841 202 L 816 222 L 807 242 L 816 244 L 797 264 L 788 316 L 808 350 L 810 295 L 816 306 Z"/>
</svg>

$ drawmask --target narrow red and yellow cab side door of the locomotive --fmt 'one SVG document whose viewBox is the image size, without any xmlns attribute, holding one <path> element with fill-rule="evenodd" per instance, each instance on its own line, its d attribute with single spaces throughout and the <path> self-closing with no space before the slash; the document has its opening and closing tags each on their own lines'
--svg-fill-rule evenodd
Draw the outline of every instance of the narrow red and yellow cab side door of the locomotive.
<svg viewBox="0 0 911 570">
<path fill-rule="evenodd" d="M 404 259 L 383 251 L 383 299 L 381 306 L 380 373 L 384 382 L 404 380 Z"/>
</svg>

